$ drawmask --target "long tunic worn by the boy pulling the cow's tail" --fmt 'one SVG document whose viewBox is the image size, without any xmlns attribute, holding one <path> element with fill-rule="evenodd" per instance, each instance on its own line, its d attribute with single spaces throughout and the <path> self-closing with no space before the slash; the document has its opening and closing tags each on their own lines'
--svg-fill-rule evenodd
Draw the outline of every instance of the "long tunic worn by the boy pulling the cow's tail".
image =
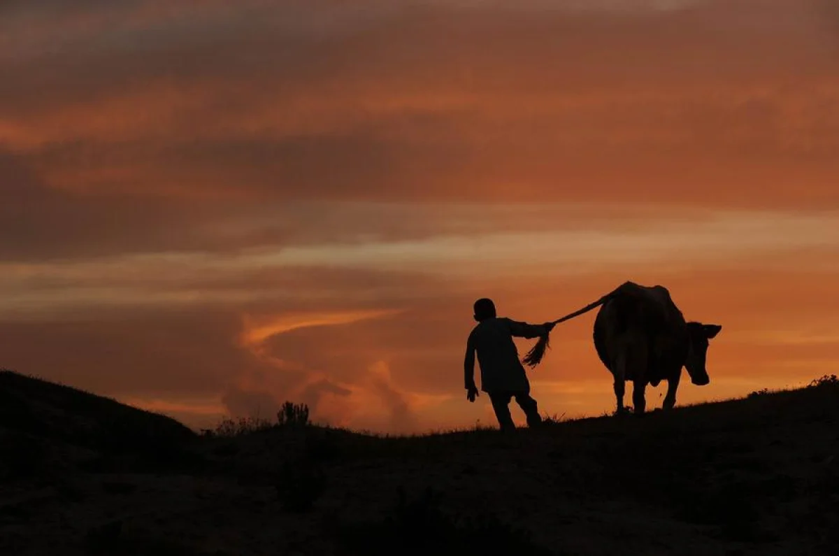
<svg viewBox="0 0 839 556">
<path fill-rule="evenodd" d="M 492 392 L 529 392 L 530 383 L 513 343 L 518 338 L 544 336 L 544 326 L 519 323 L 506 317 L 482 320 L 472 329 L 466 341 L 464 382 L 466 389 L 475 384 L 475 354 L 481 365 L 481 390 Z"/>
</svg>

